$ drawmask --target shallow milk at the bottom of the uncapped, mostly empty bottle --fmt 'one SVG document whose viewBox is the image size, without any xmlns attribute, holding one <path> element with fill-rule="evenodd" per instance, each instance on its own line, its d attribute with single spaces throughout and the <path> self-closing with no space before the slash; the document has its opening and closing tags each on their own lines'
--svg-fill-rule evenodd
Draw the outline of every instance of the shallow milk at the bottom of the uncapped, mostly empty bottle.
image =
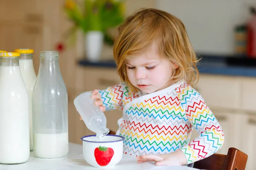
<svg viewBox="0 0 256 170">
<path fill-rule="evenodd" d="M 68 153 L 68 132 L 33 133 L 34 154 L 38 158 L 61 158 Z"/>
</svg>

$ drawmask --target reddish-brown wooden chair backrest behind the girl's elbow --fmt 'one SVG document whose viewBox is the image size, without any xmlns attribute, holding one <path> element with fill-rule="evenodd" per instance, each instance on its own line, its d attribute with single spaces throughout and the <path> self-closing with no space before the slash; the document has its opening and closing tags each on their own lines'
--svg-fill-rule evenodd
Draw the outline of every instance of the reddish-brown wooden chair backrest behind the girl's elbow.
<svg viewBox="0 0 256 170">
<path fill-rule="evenodd" d="M 230 147 L 227 155 L 213 154 L 196 161 L 194 168 L 204 170 L 244 170 L 248 156 L 241 150 Z"/>
</svg>

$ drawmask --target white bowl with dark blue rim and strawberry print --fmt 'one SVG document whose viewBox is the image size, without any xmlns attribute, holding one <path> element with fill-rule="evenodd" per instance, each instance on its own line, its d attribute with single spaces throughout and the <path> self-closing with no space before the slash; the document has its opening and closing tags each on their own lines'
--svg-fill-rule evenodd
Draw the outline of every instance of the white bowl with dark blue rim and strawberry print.
<svg viewBox="0 0 256 170">
<path fill-rule="evenodd" d="M 123 155 L 124 137 L 106 135 L 102 141 L 96 135 L 81 137 L 84 159 L 93 167 L 111 167 L 119 163 Z"/>
</svg>

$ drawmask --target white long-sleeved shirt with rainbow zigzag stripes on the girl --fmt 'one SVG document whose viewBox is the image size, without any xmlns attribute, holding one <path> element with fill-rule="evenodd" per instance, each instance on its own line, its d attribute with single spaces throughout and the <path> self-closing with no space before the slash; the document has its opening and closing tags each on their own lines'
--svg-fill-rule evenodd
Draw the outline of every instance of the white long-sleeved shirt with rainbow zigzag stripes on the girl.
<svg viewBox="0 0 256 170">
<path fill-rule="evenodd" d="M 107 110 L 123 111 L 116 134 L 125 138 L 124 153 L 157 155 L 181 149 L 191 164 L 216 153 L 224 143 L 217 119 L 186 82 L 151 94 L 129 91 L 125 83 L 100 93 Z M 199 135 L 189 142 L 193 128 Z"/>
</svg>

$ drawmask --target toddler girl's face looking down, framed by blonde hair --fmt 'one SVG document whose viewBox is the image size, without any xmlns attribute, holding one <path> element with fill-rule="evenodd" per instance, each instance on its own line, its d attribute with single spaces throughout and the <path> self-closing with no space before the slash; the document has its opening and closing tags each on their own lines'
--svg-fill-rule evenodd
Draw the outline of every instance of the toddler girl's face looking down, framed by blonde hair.
<svg viewBox="0 0 256 170">
<path fill-rule="evenodd" d="M 128 59 L 126 66 L 131 84 L 147 94 L 174 84 L 171 77 L 177 65 L 161 59 L 157 45 L 152 44 L 142 54 Z"/>
</svg>

